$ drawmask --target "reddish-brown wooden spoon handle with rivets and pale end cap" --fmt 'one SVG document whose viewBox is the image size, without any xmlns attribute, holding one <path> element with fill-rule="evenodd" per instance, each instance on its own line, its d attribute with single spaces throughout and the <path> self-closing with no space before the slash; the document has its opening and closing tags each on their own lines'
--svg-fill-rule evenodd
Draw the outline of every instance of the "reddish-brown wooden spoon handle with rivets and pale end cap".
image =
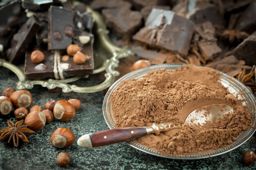
<svg viewBox="0 0 256 170">
<path fill-rule="evenodd" d="M 145 127 L 102 130 L 83 135 L 78 139 L 77 144 L 82 148 L 96 148 L 129 141 L 146 134 L 147 131 Z"/>
</svg>

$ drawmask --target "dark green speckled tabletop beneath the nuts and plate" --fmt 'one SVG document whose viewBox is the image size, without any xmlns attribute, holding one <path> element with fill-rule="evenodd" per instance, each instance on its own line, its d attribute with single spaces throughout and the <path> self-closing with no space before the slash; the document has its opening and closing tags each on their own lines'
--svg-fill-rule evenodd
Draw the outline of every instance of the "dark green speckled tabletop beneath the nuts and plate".
<svg viewBox="0 0 256 170">
<path fill-rule="evenodd" d="M 7 86 L 15 86 L 18 78 L 6 68 L 0 67 L 0 91 Z M 89 86 L 98 82 L 97 77 L 79 82 L 79 85 Z M 82 102 L 82 108 L 77 112 L 76 117 L 68 122 L 54 120 L 46 124 L 43 130 L 28 137 L 30 143 L 21 144 L 14 148 L 12 144 L 0 142 L 0 169 L 2 170 L 48 170 L 48 169 L 118 169 L 118 170 L 164 170 L 164 169 L 198 169 L 198 170 L 255 170 L 256 163 L 245 166 L 242 162 L 243 153 L 246 150 L 255 150 L 255 135 L 246 144 L 239 148 L 217 157 L 201 160 L 171 160 L 148 155 L 136 150 L 127 144 L 116 144 L 93 150 L 79 148 L 76 140 L 84 134 L 107 129 L 102 114 L 102 102 L 104 95 L 101 92 L 92 94 L 81 93 L 49 93 L 46 88 L 34 86 L 29 90 L 33 95 L 33 105 L 44 106 L 49 99 L 78 98 Z M 8 118 L 16 122 L 11 114 Z M 0 127 L 7 126 L 7 118 L 0 118 Z M 65 127 L 74 132 L 76 136 L 74 144 L 67 149 L 58 149 L 50 144 L 50 135 L 56 128 Z M 68 152 L 71 156 L 71 163 L 60 168 L 56 164 L 56 157 L 59 152 Z"/>
</svg>

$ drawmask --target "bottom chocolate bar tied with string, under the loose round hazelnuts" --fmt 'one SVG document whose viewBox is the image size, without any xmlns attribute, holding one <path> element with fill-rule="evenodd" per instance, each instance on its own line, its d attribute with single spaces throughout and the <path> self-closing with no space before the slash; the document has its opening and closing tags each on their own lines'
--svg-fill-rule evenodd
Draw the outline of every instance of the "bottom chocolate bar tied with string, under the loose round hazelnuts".
<svg viewBox="0 0 256 170">
<path fill-rule="evenodd" d="M 40 47 L 38 50 L 45 55 L 45 60 L 40 64 L 31 61 L 31 53 L 27 52 L 25 57 L 25 75 L 29 79 L 43 79 L 47 77 L 59 79 L 69 76 L 85 76 L 93 72 L 93 51 L 92 44 L 94 36 L 85 31 L 74 30 L 74 44 L 81 48 L 81 52 L 88 56 L 84 64 L 75 64 L 72 56 L 58 51 L 49 51 Z M 36 49 L 35 49 L 36 50 Z"/>
</svg>

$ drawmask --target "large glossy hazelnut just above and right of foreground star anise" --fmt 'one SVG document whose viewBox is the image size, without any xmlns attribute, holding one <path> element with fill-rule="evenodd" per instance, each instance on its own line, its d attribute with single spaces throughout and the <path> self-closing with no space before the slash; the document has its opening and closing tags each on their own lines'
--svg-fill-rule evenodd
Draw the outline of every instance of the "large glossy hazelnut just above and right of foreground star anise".
<svg viewBox="0 0 256 170">
<path fill-rule="evenodd" d="M 27 125 L 27 127 L 31 130 L 38 131 L 43 129 L 45 126 L 45 121 L 45 114 L 40 111 L 33 111 L 27 115 L 24 124 Z"/>
</svg>

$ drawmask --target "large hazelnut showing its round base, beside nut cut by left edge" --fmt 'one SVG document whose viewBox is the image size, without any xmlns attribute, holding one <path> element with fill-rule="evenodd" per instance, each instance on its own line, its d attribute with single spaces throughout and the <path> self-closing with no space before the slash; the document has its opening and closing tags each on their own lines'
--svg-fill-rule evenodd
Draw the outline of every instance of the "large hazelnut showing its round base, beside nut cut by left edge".
<svg viewBox="0 0 256 170">
<path fill-rule="evenodd" d="M 12 104 L 16 108 L 21 108 L 21 107 L 27 108 L 33 102 L 32 95 L 28 91 L 24 91 L 24 90 L 13 92 L 10 95 L 10 99 L 11 99 Z"/>
</svg>

